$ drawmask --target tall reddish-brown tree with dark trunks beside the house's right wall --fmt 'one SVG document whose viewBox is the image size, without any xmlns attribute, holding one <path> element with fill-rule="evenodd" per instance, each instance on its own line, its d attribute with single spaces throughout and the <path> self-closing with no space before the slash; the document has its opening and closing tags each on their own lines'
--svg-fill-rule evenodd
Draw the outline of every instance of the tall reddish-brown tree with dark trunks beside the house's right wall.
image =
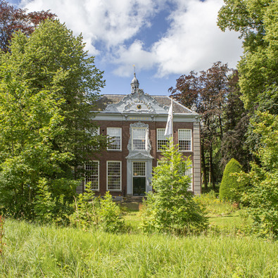
<svg viewBox="0 0 278 278">
<path fill-rule="evenodd" d="M 191 72 L 177 79 L 175 89 L 171 94 L 184 106 L 196 105 L 196 112 L 201 114 L 201 158 L 203 183 L 208 188 L 208 169 L 210 181 L 215 189 L 217 165 L 220 164 L 220 145 L 225 132 L 223 110 L 230 91 L 230 76 L 234 70 L 227 64 L 214 63 L 211 68 L 201 71 L 199 75 Z"/>
</svg>

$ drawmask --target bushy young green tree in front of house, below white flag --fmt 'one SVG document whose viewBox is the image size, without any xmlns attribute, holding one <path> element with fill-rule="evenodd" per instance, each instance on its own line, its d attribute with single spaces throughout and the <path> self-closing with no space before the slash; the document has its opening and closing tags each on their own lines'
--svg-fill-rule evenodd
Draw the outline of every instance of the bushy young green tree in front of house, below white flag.
<svg viewBox="0 0 278 278">
<path fill-rule="evenodd" d="M 153 169 L 154 192 L 147 195 L 144 203 L 142 229 L 145 232 L 187 234 L 206 229 L 203 210 L 188 191 L 191 177 L 184 175 L 184 171 L 190 165 L 190 158 L 184 161 L 177 146 L 163 150 L 163 158 Z"/>
</svg>

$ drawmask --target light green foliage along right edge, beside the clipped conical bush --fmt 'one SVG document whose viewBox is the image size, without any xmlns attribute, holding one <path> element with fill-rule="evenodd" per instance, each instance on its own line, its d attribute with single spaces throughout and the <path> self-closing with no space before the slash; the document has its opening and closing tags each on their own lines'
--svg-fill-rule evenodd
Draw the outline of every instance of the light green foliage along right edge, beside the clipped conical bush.
<svg viewBox="0 0 278 278">
<path fill-rule="evenodd" d="M 260 166 L 253 163 L 248 174 L 241 177 L 251 183 L 243 200 L 253 218 L 255 232 L 263 236 L 278 235 L 278 116 L 257 113 L 260 122 L 253 122 L 262 145 L 256 155 Z"/>
</svg>

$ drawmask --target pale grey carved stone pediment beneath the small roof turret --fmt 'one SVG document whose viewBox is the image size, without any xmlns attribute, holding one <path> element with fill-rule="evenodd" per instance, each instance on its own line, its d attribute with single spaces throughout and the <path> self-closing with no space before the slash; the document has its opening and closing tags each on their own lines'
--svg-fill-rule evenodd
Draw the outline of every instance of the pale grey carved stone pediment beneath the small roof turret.
<svg viewBox="0 0 278 278">
<path fill-rule="evenodd" d="M 109 104 L 104 112 L 167 114 L 168 109 L 168 106 L 162 106 L 149 94 L 144 94 L 142 89 L 137 89 L 134 94 L 125 96 L 119 103 Z"/>
</svg>

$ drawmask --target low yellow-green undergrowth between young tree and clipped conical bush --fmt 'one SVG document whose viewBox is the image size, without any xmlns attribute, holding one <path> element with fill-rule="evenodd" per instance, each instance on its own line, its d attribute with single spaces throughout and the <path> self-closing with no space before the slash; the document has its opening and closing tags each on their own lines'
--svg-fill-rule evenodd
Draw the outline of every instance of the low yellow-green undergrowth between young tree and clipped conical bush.
<svg viewBox="0 0 278 278">
<path fill-rule="evenodd" d="M 212 216 L 229 215 L 236 210 L 229 201 L 223 201 L 217 198 L 215 191 L 211 190 L 209 193 L 194 196 L 194 201 L 198 203 L 206 213 Z"/>
</svg>

